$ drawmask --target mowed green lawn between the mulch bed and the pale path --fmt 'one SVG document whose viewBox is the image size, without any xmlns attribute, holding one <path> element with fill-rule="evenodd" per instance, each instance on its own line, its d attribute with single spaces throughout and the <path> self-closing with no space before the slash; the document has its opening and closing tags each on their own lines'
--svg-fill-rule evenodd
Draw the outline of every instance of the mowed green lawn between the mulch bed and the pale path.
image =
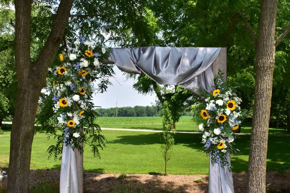
<svg viewBox="0 0 290 193">
<path fill-rule="evenodd" d="M 164 161 L 159 134 L 138 131 L 102 131 L 108 142 L 101 150 L 101 159 L 92 156 L 85 146 L 84 169 L 110 173 L 163 173 Z M 168 162 L 169 174 L 208 174 L 209 158 L 203 153 L 201 134 L 175 134 L 176 145 Z M 0 167 L 9 164 L 10 135 L 0 135 Z M 290 167 L 290 136 L 269 135 L 267 170 Z M 55 144 L 47 135 L 36 134 L 32 144 L 31 168 L 60 169 L 60 160 L 48 160 L 47 148 Z M 247 171 L 250 135 L 240 135 L 235 147 L 241 152 L 231 156 L 233 172 Z"/>
</svg>

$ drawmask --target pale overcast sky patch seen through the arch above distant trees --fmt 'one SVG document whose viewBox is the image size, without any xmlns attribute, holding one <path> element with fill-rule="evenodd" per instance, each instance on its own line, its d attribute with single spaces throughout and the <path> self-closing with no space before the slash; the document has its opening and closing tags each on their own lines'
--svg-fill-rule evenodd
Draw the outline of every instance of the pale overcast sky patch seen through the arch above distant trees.
<svg viewBox="0 0 290 193">
<path fill-rule="evenodd" d="M 152 96 L 150 94 L 146 96 L 139 94 L 133 88 L 133 79 L 126 81 L 126 77 L 116 66 L 114 66 L 114 71 L 116 73 L 114 77 L 121 85 L 114 78 L 110 78 L 113 85 L 108 86 L 107 92 L 93 95 L 95 106 L 101 106 L 102 108 L 116 107 L 116 101 L 118 101 L 118 107 L 151 106 L 151 103 L 155 103 L 155 93 Z"/>
</svg>

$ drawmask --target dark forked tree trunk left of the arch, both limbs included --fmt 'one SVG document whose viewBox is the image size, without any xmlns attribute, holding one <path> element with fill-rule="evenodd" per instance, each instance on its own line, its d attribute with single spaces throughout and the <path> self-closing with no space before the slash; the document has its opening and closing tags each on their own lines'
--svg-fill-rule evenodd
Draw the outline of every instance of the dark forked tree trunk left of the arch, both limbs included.
<svg viewBox="0 0 290 193">
<path fill-rule="evenodd" d="M 18 95 L 11 128 L 7 193 L 27 193 L 34 122 L 48 67 L 63 40 L 73 0 L 60 2 L 53 28 L 37 62 L 30 59 L 31 0 L 15 0 L 15 64 Z"/>
</svg>

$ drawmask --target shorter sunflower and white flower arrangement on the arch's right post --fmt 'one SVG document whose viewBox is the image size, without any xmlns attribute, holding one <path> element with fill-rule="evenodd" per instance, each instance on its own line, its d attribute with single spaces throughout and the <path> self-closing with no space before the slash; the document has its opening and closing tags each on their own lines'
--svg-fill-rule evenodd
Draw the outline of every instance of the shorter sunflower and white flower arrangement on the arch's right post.
<svg viewBox="0 0 290 193">
<path fill-rule="evenodd" d="M 231 87 L 222 82 L 221 75 L 216 77 L 212 93 L 201 91 L 205 97 L 199 103 L 195 115 L 202 131 L 202 144 L 205 152 L 211 155 L 211 163 L 221 163 L 229 166 L 228 153 L 237 153 L 232 142 L 235 140 L 235 131 L 242 123 L 244 112 L 240 108 L 242 100 L 237 97 Z M 230 169 L 230 167 L 229 167 Z"/>
</svg>

